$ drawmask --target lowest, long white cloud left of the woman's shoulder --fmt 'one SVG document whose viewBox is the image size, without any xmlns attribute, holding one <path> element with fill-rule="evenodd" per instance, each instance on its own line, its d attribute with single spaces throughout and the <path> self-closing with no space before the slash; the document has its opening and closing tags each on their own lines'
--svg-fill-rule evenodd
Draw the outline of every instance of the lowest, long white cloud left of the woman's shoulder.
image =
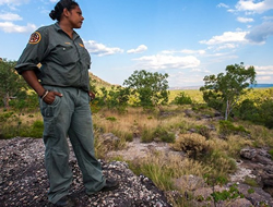
<svg viewBox="0 0 273 207">
<path fill-rule="evenodd" d="M 12 22 L 0 22 L 0 29 L 4 33 L 33 33 L 36 28 L 35 24 L 29 23 L 26 26 L 20 26 Z"/>
</svg>

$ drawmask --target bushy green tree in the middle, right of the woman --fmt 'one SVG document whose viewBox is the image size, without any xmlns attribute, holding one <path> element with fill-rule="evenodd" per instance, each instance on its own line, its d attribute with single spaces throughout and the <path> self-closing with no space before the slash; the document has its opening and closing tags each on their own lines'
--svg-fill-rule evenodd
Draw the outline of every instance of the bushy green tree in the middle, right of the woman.
<svg viewBox="0 0 273 207">
<path fill-rule="evenodd" d="M 168 102 L 168 74 L 151 73 L 145 70 L 134 71 L 123 85 L 139 96 L 143 108 L 155 107 Z"/>
</svg>

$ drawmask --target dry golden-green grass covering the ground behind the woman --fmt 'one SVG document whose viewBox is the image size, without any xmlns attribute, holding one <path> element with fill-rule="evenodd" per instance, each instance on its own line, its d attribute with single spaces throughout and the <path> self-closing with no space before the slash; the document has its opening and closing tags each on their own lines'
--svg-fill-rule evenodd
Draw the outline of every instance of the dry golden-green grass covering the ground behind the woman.
<svg viewBox="0 0 273 207">
<path fill-rule="evenodd" d="M 228 174 L 236 170 L 235 159 L 239 158 L 240 149 L 246 146 L 273 148 L 273 130 L 246 121 L 225 125 L 226 134 L 224 139 L 221 138 L 223 125 L 221 126 L 218 121 L 200 119 L 202 114 L 213 114 L 214 111 L 204 107 L 202 94 L 199 90 L 171 90 L 170 101 L 181 92 L 192 98 L 194 102 L 192 106 L 164 106 L 161 113 L 143 112 L 141 108 L 128 108 L 127 113 L 107 109 L 93 113 L 97 158 L 128 161 L 134 173 L 149 176 L 163 191 L 173 191 L 177 190 L 174 186 L 174 179 L 183 175 L 193 174 L 202 178 L 209 174 L 215 181 L 219 178 L 224 181 L 228 180 Z M 20 132 L 21 135 L 24 133 L 29 135 L 31 132 L 39 135 L 38 132 L 43 131 L 41 120 L 38 111 L 16 114 L 2 110 L 0 135 L 8 134 L 7 137 L 14 137 Z M 214 130 L 209 127 L 211 125 Z M 235 131 L 244 131 L 244 133 L 234 133 Z M 112 133 L 119 137 L 119 141 L 114 145 L 105 145 L 100 138 L 104 133 Z M 146 143 L 169 143 L 169 146 L 176 150 L 170 153 L 151 150 L 144 159 L 133 161 L 126 160 L 123 157 L 106 156 L 109 150 L 126 148 L 128 142 L 133 138 L 141 138 Z M 273 156 L 272 151 L 273 149 L 270 151 Z M 254 185 L 251 180 L 246 182 Z M 183 193 L 187 190 L 181 186 L 178 191 Z M 170 196 L 169 200 L 173 200 L 174 206 L 190 206 L 189 200 L 183 198 L 177 202 L 177 198 Z"/>
</svg>

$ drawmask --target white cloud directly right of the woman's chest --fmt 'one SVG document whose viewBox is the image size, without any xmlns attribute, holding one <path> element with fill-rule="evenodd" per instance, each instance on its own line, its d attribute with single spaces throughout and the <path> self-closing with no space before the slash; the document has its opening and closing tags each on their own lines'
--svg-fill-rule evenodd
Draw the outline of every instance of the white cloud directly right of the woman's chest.
<svg viewBox="0 0 273 207">
<path fill-rule="evenodd" d="M 122 53 L 123 50 L 120 48 L 109 48 L 103 44 L 98 44 L 94 40 L 84 41 L 85 48 L 90 53 L 97 54 L 98 57 L 110 56 L 115 53 Z"/>
</svg>

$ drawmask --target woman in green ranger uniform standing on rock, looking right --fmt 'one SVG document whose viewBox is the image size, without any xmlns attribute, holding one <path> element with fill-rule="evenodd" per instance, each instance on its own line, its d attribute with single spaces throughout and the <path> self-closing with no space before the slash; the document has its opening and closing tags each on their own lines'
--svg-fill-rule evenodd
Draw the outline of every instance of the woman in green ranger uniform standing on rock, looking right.
<svg viewBox="0 0 273 207">
<path fill-rule="evenodd" d="M 74 32 L 82 26 L 82 11 L 75 1 L 60 0 L 49 16 L 57 23 L 32 34 L 15 69 L 40 97 L 45 162 L 50 184 L 48 199 L 56 206 L 73 206 L 74 200 L 69 196 L 72 172 L 67 136 L 88 195 L 115 190 L 119 184 L 105 180 L 94 154 L 88 105 L 94 97 L 88 80 L 91 58 Z"/>
</svg>

